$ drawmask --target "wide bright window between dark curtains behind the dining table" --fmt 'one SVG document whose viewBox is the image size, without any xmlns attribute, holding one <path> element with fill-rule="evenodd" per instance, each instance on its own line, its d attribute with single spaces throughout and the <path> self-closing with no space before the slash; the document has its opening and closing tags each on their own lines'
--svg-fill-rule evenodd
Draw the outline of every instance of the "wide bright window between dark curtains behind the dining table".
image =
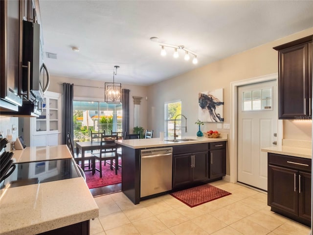
<svg viewBox="0 0 313 235">
<path fill-rule="evenodd" d="M 121 132 L 122 104 L 73 101 L 73 123 L 74 141 L 90 141 L 90 131 Z"/>
</svg>

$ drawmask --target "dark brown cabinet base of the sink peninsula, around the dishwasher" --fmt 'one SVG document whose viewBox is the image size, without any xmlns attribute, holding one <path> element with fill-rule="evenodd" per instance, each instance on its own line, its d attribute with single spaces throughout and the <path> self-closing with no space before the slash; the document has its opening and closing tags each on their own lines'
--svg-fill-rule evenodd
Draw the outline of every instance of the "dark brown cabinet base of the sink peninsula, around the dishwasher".
<svg viewBox="0 0 313 235">
<path fill-rule="evenodd" d="M 208 138 L 206 138 L 208 139 Z M 152 139 L 153 140 L 153 139 Z M 205 139 L 204 139 L 205 140 Z M 134 141 L 134 140 L 132 140 Z M 136 140 L 140 142 L 141 140 Z M 120 141 L 117 141 L 121 143 Z M 140 200 L 153 198 L 161 194 L 154 194 L 148 197 L 140 197 L 140 151 L 151 147 L 173 147 L 173 174 L 172 192 L 179 189 L 192 188 L 200 184 L 206 184 L 222 179 L 225 175 L 226 144 L 225 139 L 189 144 L 174 145 L 147 145 L 147 148 L 140 146 L 122 145 L 122 192 L 134 203 L 139 204 Z M 149 147 L 148 147 L 149 146 Z M 181 161 L 179 161 L 181 160 Z M 192 165 L 192 167 L 190 166 Z M 188 173 L 186 173 L 188 172 Z M 186 173 L 186 174 L 185 174 Z M 186 178 L 186 179 L 185 179 Z M 163 192 L 163 194 L 166 192 Z"/>
</svg>

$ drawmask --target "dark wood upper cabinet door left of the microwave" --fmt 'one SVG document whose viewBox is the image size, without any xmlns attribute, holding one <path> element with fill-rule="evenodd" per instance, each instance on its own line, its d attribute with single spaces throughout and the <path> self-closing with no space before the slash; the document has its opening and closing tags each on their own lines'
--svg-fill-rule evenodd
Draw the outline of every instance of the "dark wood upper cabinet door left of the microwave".
<svg viewBox="0 0 313 235">
<path fill-rule="evenodd" d="M 0 28 L 0 97 L 21 106 L 22 1 L 0 1 Z"/>
</svg>

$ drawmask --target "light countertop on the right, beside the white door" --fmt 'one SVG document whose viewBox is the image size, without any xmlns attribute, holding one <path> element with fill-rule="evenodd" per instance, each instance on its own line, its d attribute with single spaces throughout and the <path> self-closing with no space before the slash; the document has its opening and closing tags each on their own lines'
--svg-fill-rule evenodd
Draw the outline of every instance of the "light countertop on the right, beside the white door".
<svg viewBox="0 0 313 235">
<path fill-rule="evenodd" d="M 300 148 L 300 147 L 282 145 L 282 146 L 262 148 L 261 151 L 268 152 L 268 153 L 276 153 L 276 154 L 312 159 L 312 149 L 311 148 Z"/>
</svg>

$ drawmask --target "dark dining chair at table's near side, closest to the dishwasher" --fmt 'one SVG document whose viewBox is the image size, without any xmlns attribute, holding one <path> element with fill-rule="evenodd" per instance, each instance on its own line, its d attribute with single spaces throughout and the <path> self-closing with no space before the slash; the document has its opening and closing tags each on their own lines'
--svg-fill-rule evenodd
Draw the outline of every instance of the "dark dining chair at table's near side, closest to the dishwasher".
<svg viewBox="0 0 313 235">
<path fill-rule="evenodd" d="M 112 136 L 101 134 L 100 140 L 101 149 L 99 154 L 95 154 L 95 160 L 98 160 L 100 162 L 99 168 L 95 167 L 95 170 L 100 172 L 100 178 L 102 178 L 102 162 L 106 162 L 107 160 L 110 160 L 111 165 L 110 168 L 111 170 L 115 168 L 115 175 L 117 175 L 118 156 L 117 156 L 117 144 L 115 143 L 115 140 L 116 135 Z"/>
</svg>

